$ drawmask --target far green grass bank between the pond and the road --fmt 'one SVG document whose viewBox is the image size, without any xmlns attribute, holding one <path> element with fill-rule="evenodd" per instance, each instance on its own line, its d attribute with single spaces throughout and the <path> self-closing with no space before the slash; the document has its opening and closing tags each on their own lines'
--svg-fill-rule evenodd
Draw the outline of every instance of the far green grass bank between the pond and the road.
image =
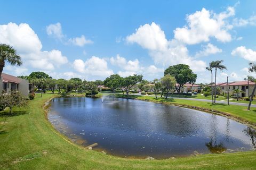
<svg viewBox="0 0 256 170">
<path fill-rule="evenodd" d="M 204 110 L 206 112 L 215 112 L 217 114 L 230 116 L 237 121 L 250 124 L 254 128 L 256 127 L 256 108 L 251 108 L 251 111 L 247 111 L 245 106 L 227 105 L 227 104 L 211 104 L 206 101 L 185 100 L 178 98 L 155 98 L 153 96 L 136 96 L 136 95 L 116 95 L 119 98 L 130 98 L 138 100 L 152 101 L 156 103 L 165 103 L 172 105 L 185 106 L 193 109 Z"/>
</svg>

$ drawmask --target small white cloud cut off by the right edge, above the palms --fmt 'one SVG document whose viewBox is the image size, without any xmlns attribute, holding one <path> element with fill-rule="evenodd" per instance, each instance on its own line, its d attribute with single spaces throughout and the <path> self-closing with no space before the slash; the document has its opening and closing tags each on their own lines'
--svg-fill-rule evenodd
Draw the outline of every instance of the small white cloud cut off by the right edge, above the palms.
<svg viewBox="0 0 256 170">
<path fill-rule="evenodd" d="M 231 55 L 242 57 L 250 62 L 256 62 L 256 52 L 250 48 L 247 49 L 245 46 L 235 48 Z"/>
</svg>

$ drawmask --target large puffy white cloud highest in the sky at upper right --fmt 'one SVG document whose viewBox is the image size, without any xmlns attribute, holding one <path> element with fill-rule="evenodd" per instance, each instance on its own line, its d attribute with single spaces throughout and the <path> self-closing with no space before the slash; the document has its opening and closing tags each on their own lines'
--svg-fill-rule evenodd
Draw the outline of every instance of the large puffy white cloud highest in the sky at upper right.
<svg viewBox="0 0 256 170">
<path fill-rule="evenodd" d="M 187 16 L 187 24 L 174 30 L 174 38 L 186 44 L 207 42 L 210 37 L 215 37 L 221 42 L 231 40 L 228 32 L 232 28 L 225 19 L 235 15 L 234 7 L 219 14 L 212 13 L 205 8 Z"/>
</svg>

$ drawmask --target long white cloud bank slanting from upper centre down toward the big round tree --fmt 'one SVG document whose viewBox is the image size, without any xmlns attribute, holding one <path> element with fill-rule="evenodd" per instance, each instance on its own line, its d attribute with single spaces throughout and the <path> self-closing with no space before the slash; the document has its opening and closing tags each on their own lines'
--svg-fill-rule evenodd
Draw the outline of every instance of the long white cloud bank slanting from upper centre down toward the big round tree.
<svg viewBox="0 0 256 170">
<path fill-rule="evenodd" d="M 167 40 L 164 31 L 154 22 L 140 26 L 135 33 L 126 37 L 126 41 L 148 49 L 149 55 L 157 64 L 169 66 L 184 63 L 194 71 L 205 70 L 205 62 L 190 57 L 187 47 L 177 43 L 177 40 Z"/>
</svg>

